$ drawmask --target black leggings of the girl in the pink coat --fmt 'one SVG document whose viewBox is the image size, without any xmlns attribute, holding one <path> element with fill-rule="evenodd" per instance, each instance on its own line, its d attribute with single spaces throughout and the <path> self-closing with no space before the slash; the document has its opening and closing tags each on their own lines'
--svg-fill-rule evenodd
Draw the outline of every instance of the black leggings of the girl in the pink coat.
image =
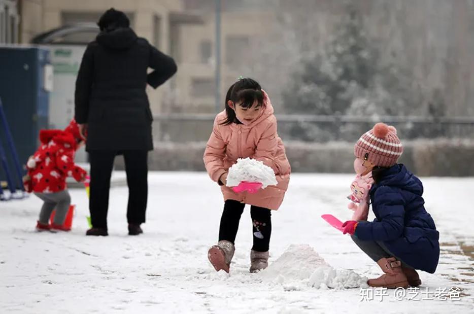
<svg viewBox="0 0 474 314">
<path fill-rule="evenodd" d="M 235 236 L 239 229 L 239 222 L 244 212 L 244 207 L 244 203 L 236 200 L 228 199 L 225 201 L 219 228 L 219 241 L 227 240 L 235 243 Z M 266 252 L 270 244 L 270 235 L 272 235 L 272 211 L 252 205 L 250 216 L 253 224 L 252 250 Z"/>
</svg>

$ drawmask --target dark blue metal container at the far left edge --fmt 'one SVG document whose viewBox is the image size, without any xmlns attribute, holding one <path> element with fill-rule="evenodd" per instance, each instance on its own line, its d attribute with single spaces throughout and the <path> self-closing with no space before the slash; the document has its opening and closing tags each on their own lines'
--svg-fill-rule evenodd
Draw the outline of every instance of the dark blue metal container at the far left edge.
<svg viewBox="0 0 474 314">
<path fill-rule="evenodd" d="M 49 51 L 38 47 L 0 47 L 0 97 L 13 135 L 19 161 L 23 165 L 39 144 L 40 129 L 48 127 L 49 91 L 52 89 Z M 3 126 L 2 143 L 7 143 Z M 14 169 L 8 147 L 7 159 Z M 5 171 L 0 168 L 0 180 Z"/>
</svg>

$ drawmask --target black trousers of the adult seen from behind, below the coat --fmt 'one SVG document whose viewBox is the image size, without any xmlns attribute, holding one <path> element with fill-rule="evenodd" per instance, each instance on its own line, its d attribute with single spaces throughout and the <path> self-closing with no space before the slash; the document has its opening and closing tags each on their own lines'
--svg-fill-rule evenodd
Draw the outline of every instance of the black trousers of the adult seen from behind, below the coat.
<svg viewBox="0 0 474 314">
<path fill-rule="evenodd" d="M 121 151 L 125 160 L 128 185 L 128 223 L 145 222 L 148 197 L 148 151 Z M 107 228 L 110 176 L 118 151 L 90 151 L 89 211 L 93 227 Z"/>
</svg>

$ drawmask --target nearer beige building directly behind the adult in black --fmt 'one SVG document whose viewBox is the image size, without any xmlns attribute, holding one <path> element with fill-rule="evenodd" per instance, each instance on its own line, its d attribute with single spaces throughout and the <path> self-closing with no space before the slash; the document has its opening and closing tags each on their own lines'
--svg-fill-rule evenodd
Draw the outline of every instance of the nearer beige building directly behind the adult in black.
<svg viewBox="0 0 474 314">
<path fill-rule="evenodd" d="M 170 54 L 172 29 L 180 23 L 188 22 L 181 1 L 176 0 L 19 0 L 16 2 L 21 17 L 19 40 L 29 43 L 40 33 L 63 25 L 92 22 L 96 23 L 107 9 L 121 10 L 130 19 L 131 27 L 141 37 L 146 38 L 164 53 Z M 92 41 L 95 34 L 76 34 L 80 41 Z M 89 36 L 89 38 L 87 38 Z M 74 38 L 64 39 L 74 41 Z M 148 89 L 151 108 L 154 113 L 161 111 L 162 99 L 169 93 L 172 83 L 166 83 L 158 90 Z"/>
</svg>

